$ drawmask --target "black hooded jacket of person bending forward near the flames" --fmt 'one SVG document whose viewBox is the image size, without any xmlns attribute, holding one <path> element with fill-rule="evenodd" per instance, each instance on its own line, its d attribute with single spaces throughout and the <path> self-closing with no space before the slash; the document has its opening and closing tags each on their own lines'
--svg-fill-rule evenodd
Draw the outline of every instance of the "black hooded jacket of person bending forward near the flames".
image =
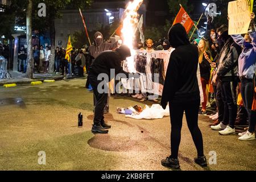
<svg viewBox="0 0 256 182">
<path fill-rule="evenodd" d="M 96 57 L 90 66 L 89 75 L 98 76 L 100 73 L 106 73 L 110 81 L 118 73 L 124 73 L 128 78 L 129 73 L 123 71 L 123 68 L 121 67 L 121 61 L 130 56 L 130 49 L 126 46 L 121 46 L 120 48 L 115 49 L 115 51 L 104 51 Z M 110 75 L 110 69 L 115 69 L 115 75 Z"/>
</svg>

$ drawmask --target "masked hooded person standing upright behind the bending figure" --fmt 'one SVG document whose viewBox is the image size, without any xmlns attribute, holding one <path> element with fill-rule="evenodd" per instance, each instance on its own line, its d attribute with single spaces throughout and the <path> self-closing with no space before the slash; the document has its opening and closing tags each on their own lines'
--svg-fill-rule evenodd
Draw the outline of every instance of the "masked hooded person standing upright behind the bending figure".
<svg viewBox="0 0 256 182">
<path fill-rule="evenodd" d="M 98 55 L 100 55 L 101 52 L 103 51 L 108 51 L 108 50 L 113 50 L 115 48 L 117 48 L 119 46 L 119 42 L 115 42 L 115 43 L 104 43 L 104 39 L 103 39 L 103 35 L 101 34 L 101 32 L 96 32 L 94 34 L 94 45 L 89 47 L 89 63 L 92 64 L 93 61 L 96 59 L 96 57 Z M 89 87 L 89 80 L 86 82 L 85 85 L 86 88 Z M 108 98 L 108 102 L 109 102 L 109 98 Z M 94 96 L 94 105 L 96 105 L 96 98 Z M 105 113 L 109 112 L 109 104 L 106 104 L 105 107 Z"/>
</svg>

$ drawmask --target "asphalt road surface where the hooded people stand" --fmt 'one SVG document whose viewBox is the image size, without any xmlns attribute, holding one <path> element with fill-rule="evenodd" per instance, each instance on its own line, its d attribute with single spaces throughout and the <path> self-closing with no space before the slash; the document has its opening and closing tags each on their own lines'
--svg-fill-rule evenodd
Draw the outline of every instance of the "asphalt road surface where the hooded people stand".
<svg viewBox="0 0 256 182">
<path fill-rule="evenodd" d="M 90 132 L 93 94 L 84 85 L 85 79 L 76 79 L 0 87 L 0 170 L 171 170 L 160 164 L 170 155 L 169 117 L 125 118 L 115 112 L 116 107 L 153 103 L 112 97 L 105 117 L 112 129 L 109 134 L 94 135 Z M 82 128 L 77 127 L 80 112 Z M 237 134 L 218 135 L 209 123 L 208 117 L 199 117 L 205 155 L 211 159 L 209 154 L 216 154 L 216 164 L 201 168 L 193 162 L 196 149 L 184 117 L 181 170 L 255 171 L 256 140 L 242 142 Z M 46 165 L 38 164 L 40 151 L 46 154 Z"/>
</svg>

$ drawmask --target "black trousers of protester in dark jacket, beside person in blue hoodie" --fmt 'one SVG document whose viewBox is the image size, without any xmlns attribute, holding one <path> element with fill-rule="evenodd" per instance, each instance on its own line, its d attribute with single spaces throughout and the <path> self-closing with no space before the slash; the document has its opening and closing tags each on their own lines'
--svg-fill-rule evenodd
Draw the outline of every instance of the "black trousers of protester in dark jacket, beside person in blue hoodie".
<svg viewBox="0 0 256 182">
<path fill-rule="evenodd" d="M 219 103 L 218 110 L 220 115 L 223 115 L 222 123 L 232 128 L 234 128 L 237 117 L 237 84 L 237 81 L 220 81 L 221 98 L 224 106 L 220 107 Z"/>
</svg>

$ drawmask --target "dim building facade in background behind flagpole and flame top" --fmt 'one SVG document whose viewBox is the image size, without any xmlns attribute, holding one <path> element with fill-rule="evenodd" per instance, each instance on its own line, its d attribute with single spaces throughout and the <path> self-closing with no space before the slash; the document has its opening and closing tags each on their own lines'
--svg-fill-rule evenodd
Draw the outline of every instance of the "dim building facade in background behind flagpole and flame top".
<svg viewBox="0 0 256 182">
<path fill-rule="evenodd" d="M 97 30 L 110 24 L 110 16 L 106 15 L 106 10 L 111 13 L 115 20 L 122 19 L 126 5 L 129 1 L 94 1 L 90 9 L 82 10 L 88 31 Z M 146 23 L 147 1 L 143 3 L 138 11 L 143 15 Z M 84 25 L 79 10 L 62 10 L 62 17 L 55 19 L 55 45 L 59 47 L 67 46 L 68 36 L 76 31 L 83 31 Z"/>
</svg>

